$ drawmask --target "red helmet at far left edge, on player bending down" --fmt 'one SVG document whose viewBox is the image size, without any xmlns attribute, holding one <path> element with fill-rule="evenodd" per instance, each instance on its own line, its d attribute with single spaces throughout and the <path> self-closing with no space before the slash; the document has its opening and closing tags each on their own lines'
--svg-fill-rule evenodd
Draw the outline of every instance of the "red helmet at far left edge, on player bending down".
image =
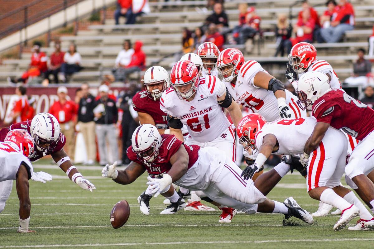
<svg viewBox="0 0 374 249">
<path fill-rule="evenodd" d="M 34 153 L 33 138 L 26 130 L 10 130 L 5 136 L 4 143 L 9 144 L 25 157 L 30 157 Z"/>
</svg>

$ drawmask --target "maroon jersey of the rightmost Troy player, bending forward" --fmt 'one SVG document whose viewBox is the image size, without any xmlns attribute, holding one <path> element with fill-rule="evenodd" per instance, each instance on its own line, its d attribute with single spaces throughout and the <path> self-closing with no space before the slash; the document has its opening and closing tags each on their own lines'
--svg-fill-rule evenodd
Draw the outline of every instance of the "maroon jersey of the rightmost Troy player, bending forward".
<svg viewBox="0 0 374 249">
<path fill-rule="evenodd" d="M 317 122 L 343 129 L 358 140 L 374 130 L 374 110 L 339 89 L 332 89 L 317 99 L 312 115 Z"/>
</svg>

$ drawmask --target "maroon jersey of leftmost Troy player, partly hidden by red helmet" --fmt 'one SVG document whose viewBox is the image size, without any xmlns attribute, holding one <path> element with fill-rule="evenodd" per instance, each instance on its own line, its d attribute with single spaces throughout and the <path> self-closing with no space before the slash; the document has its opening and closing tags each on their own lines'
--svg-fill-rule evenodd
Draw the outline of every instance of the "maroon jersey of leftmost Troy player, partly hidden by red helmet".
<svg viewBox="0 0 374 249">
<path fill-rule="evenodd" d="M 14 129 L 27 130 L 27 132 L 31 135 L 31 133 L 30 133 L 30 124 L 31 124 L 31 120 L 28 120 L 28 121 L 24 121 L 24 122 L 19 122 L 19 123 L 12 124 L 11 126 L 9 126 L 9 128 L 3 128 L 3 129 L 1 129 L 1 131 L 0 131 L 0 142 L 4 142 L 5 136 L 9 132 L 9 130 L 14 130 Z M 57 141 L 56 147 L 52 151 L 50 151 L 49 153 L 47 153 L 45 155 L 43 155 L 43 151 L 40 151 L 36 147 L 36 145 L 34 145 L 34 153 L 30 157 L 30 161 L 34 162 L 34 161 L 36 161 L 38 159 L 41 159 L 43 156 L 51 155 L 51 154 L 54 154 L 54 153 L 62 150 L 62 148 L 64 148 L 64 145 L 66 143 L 66 139 L 65 139 L 64 134 L 62 134 L 62 133 L 60 133 L 60 134 L 61 134 L 61 137 Z"/>
</svg>

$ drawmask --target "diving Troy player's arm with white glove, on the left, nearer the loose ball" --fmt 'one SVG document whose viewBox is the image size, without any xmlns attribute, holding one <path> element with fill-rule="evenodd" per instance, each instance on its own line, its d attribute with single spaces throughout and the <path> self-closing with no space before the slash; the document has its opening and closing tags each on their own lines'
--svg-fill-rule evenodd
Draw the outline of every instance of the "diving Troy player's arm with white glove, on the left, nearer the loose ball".
<svg viewBox="0 0 374 249">
<path fill-rule="evenodd" d="M 102 177 L 112 178 L 113 181 L 119 184 L 130 184 L 134 182 L 145 171 L 145 167 L 136 162 L 131 162 L 124 170 L 116 169 L 117 162 L 113 165 L 105 165 L 102 169 Z"/>
</svg>

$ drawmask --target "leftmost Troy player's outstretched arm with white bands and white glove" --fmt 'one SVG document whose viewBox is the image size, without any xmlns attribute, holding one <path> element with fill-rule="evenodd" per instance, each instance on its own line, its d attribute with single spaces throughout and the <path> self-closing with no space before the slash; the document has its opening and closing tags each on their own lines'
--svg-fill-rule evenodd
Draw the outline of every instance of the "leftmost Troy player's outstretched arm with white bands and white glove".
<svg viewBox="0 0 374 249">
<path fill-rule="evenodd" d="M 90 181 L 87 179 L 84 179 L 82 174 L 79 173 L 78 169 L 71 163 L 70 158 L 64 151 L 64 149 L 61 149 L 60 151 L 57 151 L 56 153 L 53 153 L 52 155 L 53 160 L 56 162 L 56 164 L 64 170 L 66 175 L 68 176 L 71 181 L 79 185 L 79 187 L 83 188 L 84 190 L 89 190 L 92 192 L 92 190 L 95 190 L 96 187 L 93 185 Z"/>
</svg>

